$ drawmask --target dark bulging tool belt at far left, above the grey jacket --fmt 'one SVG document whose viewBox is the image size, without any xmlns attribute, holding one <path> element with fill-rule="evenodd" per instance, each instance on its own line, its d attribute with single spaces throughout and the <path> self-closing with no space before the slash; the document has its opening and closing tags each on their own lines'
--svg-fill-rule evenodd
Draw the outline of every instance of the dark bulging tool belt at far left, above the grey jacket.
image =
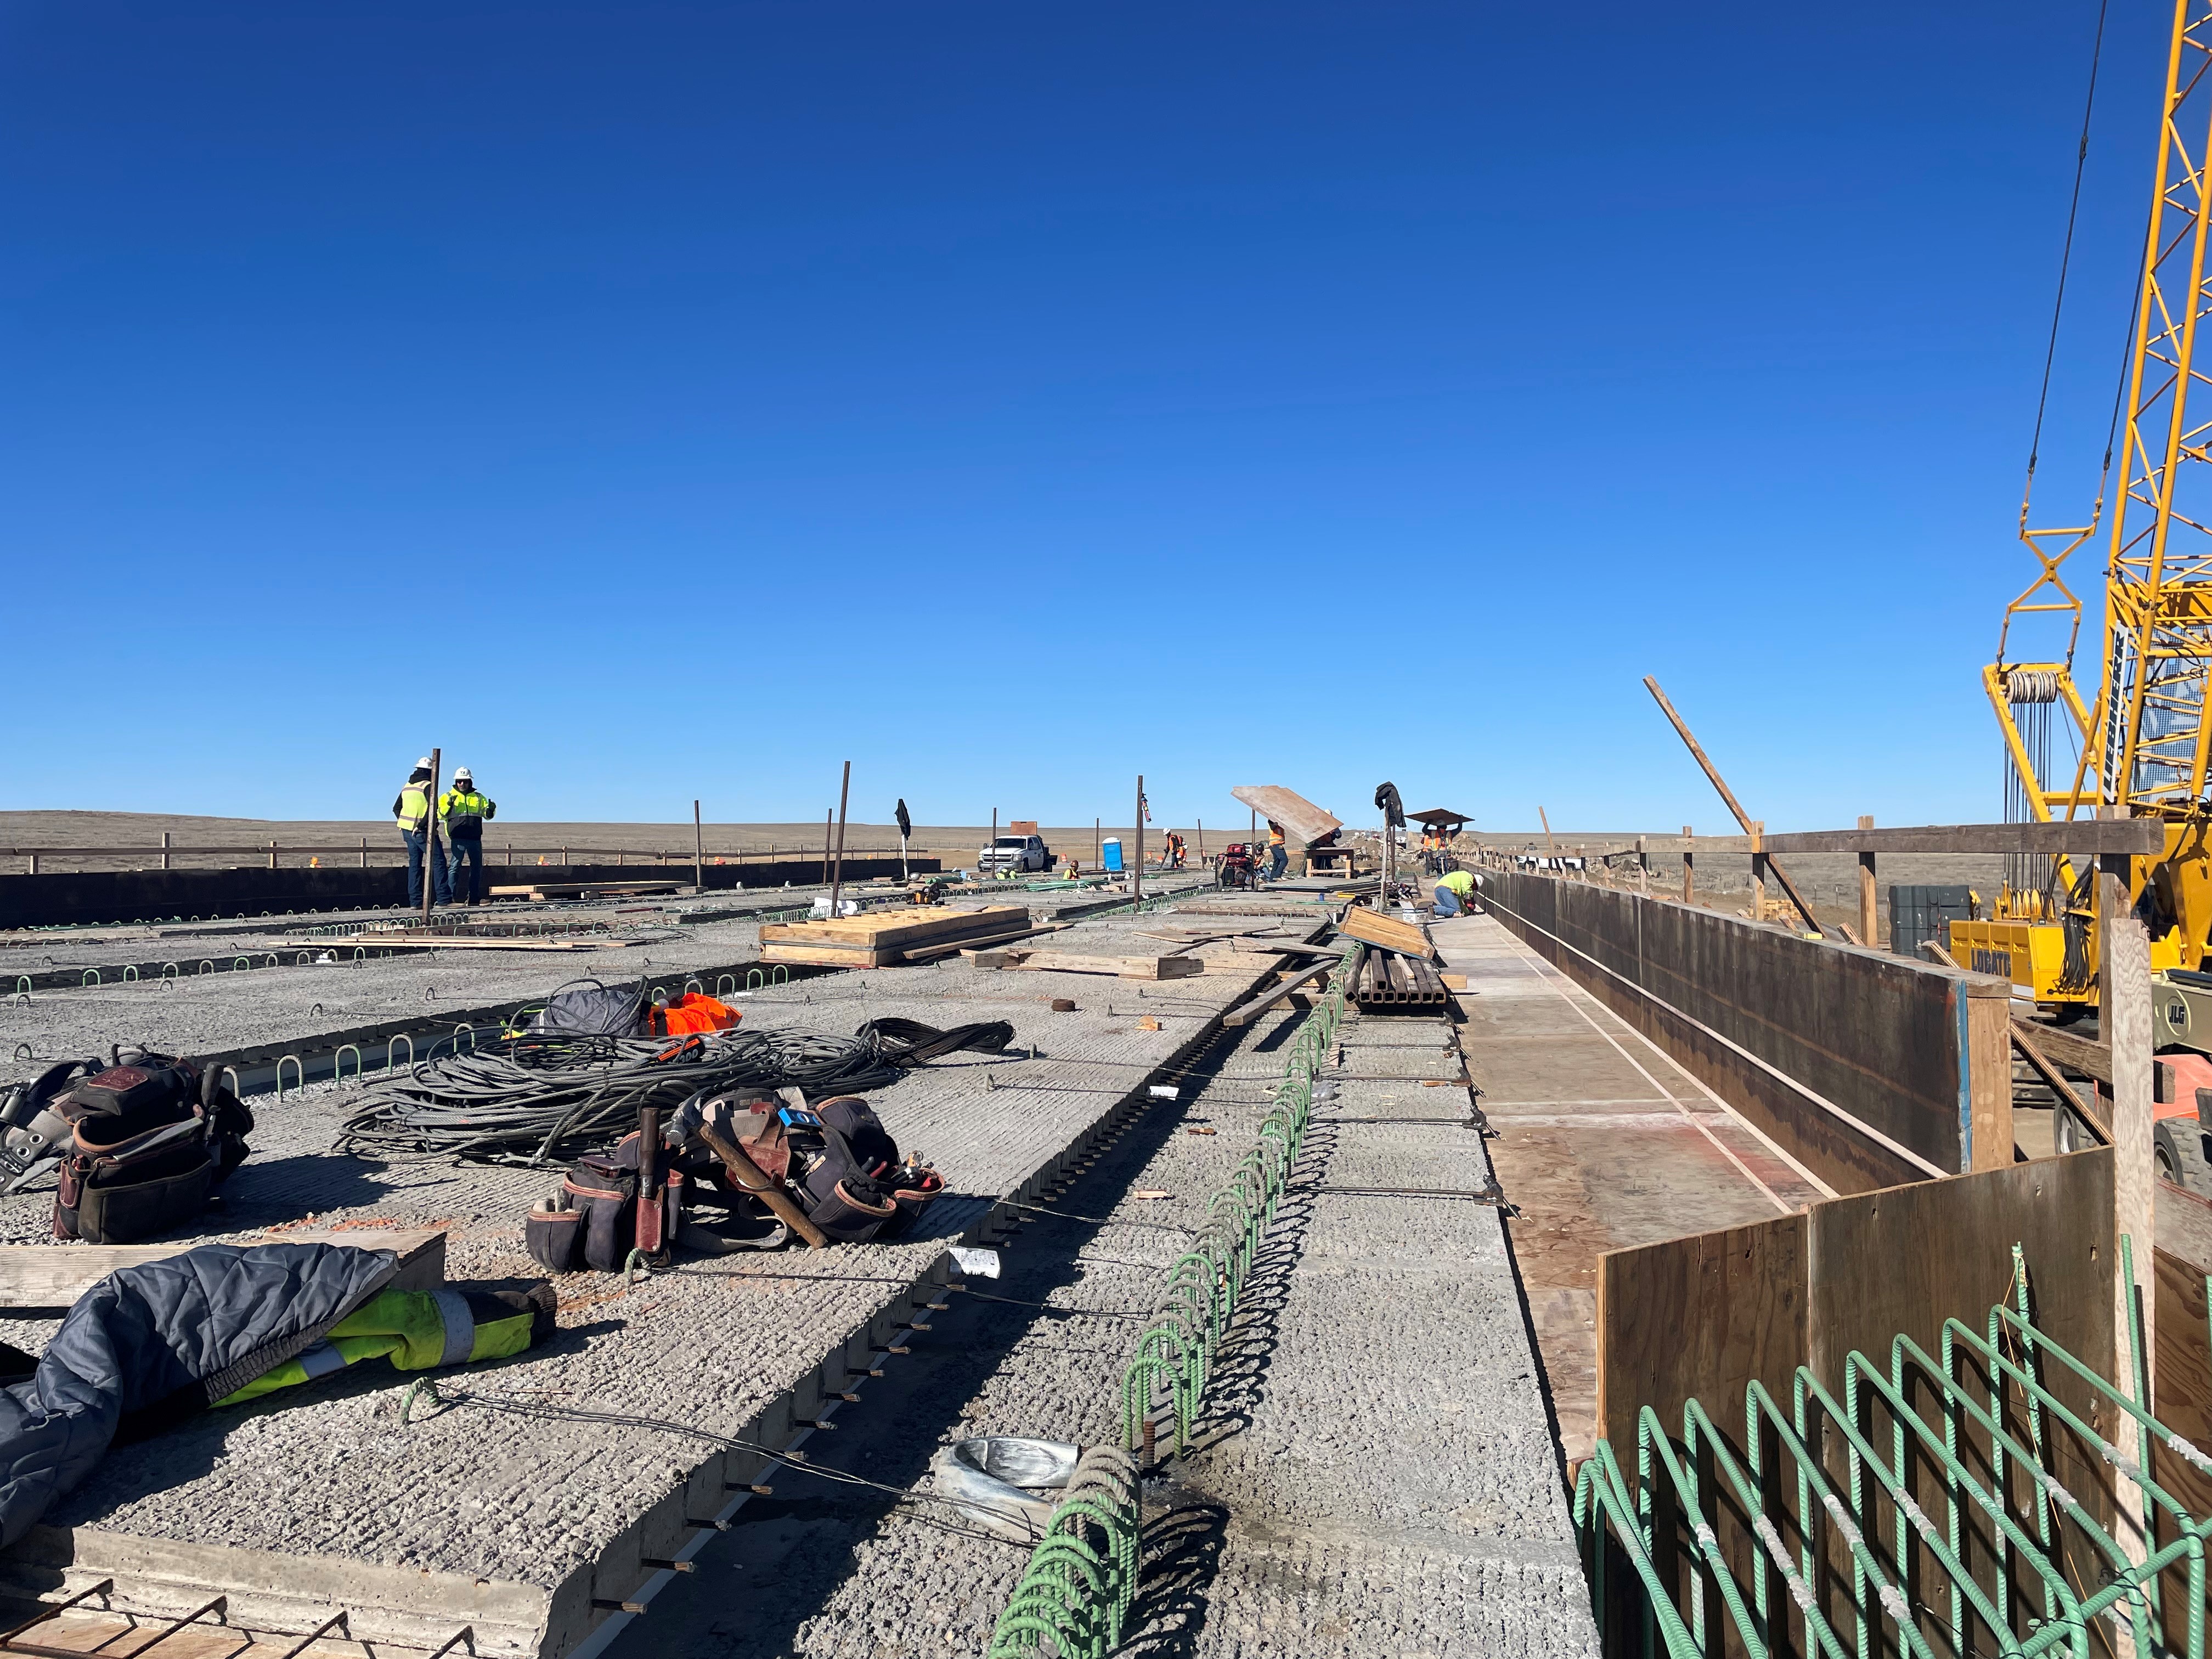
<svg viewBox="0 0 2212 1659">
<path fill-rule="evenodd" d="M 139 1051 L 49 1104 L 69 1124 L 53 1237 L 131 1243 L 192 1221 L 246 1161 L 254 1117 L 221 1073 Z"/>
</svg>

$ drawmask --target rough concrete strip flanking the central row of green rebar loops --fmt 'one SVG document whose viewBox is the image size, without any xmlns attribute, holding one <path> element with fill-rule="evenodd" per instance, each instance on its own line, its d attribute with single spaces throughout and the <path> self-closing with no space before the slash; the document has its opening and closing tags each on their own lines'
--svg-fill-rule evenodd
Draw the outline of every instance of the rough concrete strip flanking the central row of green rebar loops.
<svg viewBox="0 0 2212 1659">
<path fill-rule="evenodd" d="M 781 1471 L 606 1652 L 982 1652 L 1029 1548 L 949 1513 L 931 1453 L 982 1433 L 1119 1442 L 1141 1316 L 1179 1230 L 1250 1150 L 1301 1020 L 1223 1037 L 1197 1091 L 1124 1130 L 1051 1201 L 1060 1214 L 1022 1228 L 1002 1276 L 969 1279 L 872 1385 L 818 1455 L 883 1486 Z M 1422 1088 L 1464 1075 L 1453 1026 L 1369 1018 L 1340 1037 L 1325 1073 L 1340 1093 L 1316 1110 L 1194 1447 L 1148 1482 L 1126 1650 L 1595 1655 L 1498 1212 L 1334 1190 L 1491 1186 L 1471 1097 Z"/>
</svg>

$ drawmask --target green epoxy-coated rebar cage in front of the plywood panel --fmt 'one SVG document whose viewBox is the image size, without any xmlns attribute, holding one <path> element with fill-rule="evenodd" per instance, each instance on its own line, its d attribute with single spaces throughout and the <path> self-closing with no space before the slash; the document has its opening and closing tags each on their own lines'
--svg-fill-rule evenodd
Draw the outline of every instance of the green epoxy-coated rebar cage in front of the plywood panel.
<svg viewBox="0 0 2212 1659">
<path fill-rule="evenodd" d="M 1798 1367 L 1787 1411 L 1763 1383 L 1747 1385 L 1741 1460 L 1701 1402 L 1683 1405 L 1679 1436 L 1646 1407 L 1637 1486 L 1606 1440 L 1575 1478 L 1575 1535 L 1599 1630 L 1617 1635 L 1632 1621 L 1637 1646 L 1670 1659 L 1723 1648 L 1752 1659 L 2090 1659 L 2104 1648 L 2205 1659 L 2212 1517 L 2188 1513 L 2157 1464 L 2179 1458 L 2212 1475 L 2212 1455 L 2150 1413 L 2132 1263 L 2135 1243 L 2121 1239 L 2130 1340 L 2119 1383 L 2035 1325 L 2015 1245 L 2006 1301 L 1980 1329 L 1947 1321 L 1940 1354 L 1909 1336 L 1891 1343 L 1887 1365 L 1851 1352 L 1840 1400 Z M 2212 1305 L 2212 1279 L 2205 1294 Z M 2055 1391 L 2062 1380 L 2086 1407 Z M 1876 1413 L 1889 1418 L 1887 1455 Z M 2124 1420 L 2137 1429 L 2139 1458 L 2099 1429 Z M 2148 1528 L 2135 1553 L 2059 1484 L 2062 1436 L 2093 1469 L 2110 1469 L 2121 1491 L 2132 1486 Z M 1920 1480 L 1940 1491 L 1942 1517 L 1920 1506 Z M 1672 1517 L 1692 1540 L 1674 1571 L 1657 1559 L 1661 1513 L 1670 1544 Z M 1750 1528 L 1741 1559 L 1721 1544 L 1723 1515 Z M 2170 1542 L 2154 1548 L 2161 1533 Z M 1606 1601 L 1624 1588 L 1637 1606 L 1615 1626 Z M 1714 1610 L 1730 1630 L 1721 1641 Z M 2179 1641 L 2168 1644 L 2177 1624 Z"/>
</svg>

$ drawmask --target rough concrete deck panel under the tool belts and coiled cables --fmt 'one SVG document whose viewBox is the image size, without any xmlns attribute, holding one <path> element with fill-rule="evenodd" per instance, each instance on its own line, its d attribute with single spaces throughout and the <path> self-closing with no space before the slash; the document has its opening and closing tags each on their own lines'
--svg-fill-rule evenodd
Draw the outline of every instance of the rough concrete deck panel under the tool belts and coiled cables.
<svg viewBox="0 0 2212 1659">
<path fill-rule="evenodd" d="M 1077 922 L 1053 942 L 1084 953 L 1164 953 L 1172 947 L 1141 938 L 1157 925 L 1159 914 Z M 942 1261 L 947 1241 L 1053 1166 L 1254 980 L 1250 967 L 1172 984 L 982 973 L 953 958 L 750 998 L 752 1029 L 852 1031 L 880 1015 L 940 1026 L 1013 1022 L 1009 1055 L 953 1055 L 874 1095 L 900 1148 L 920 1148 L 947 1175 L 951 1190 L 933 1206 L 929 1234 L 690 1261 L 630 1290 L 619 1276 L 573 1274 L 560 1281 L 557 1338 L 456 1385 L 677 1418 L 706 1436 L 787 1436 L 794 1409 L 818 1409 L 810 1394 L 816 1367 L 841 1352 L 865 1367 L 858 1356 L 889 1340 L 887 1321 L 911 1305 L 909 1290 Z M 1055 1013 L 1053 998 L 1077 1006 Z M 261 1102 L 254 1155 L 228 1183 L 221 1217 L 195 1237 L 237 1239 L 310 1221 L 440 1225 L 451 1281 L 535 1279 L 522 1214 L 553 1175 L 334 1157 L 332 1135 L 356 1097 L 356 1084 L 325 1084 L 290 1093 L 281 1106 Z M 1234 1144 L 1230 1133 L 1221 1139 Z M 42 1239 L 49 1208 L 49 1192 L 0 1199 L 0 1239 Z M 31 1349 L 51 1329 L 49 1321 L 0 1321 L 0 1338 Z M 363 1367 L 314 1391 L 212 1411 L 157 1440 L 117 1447 L 46 1522 L 538 1586 L 555 1624 L 566 1621 L 544 1639 L 560 1652 L 599 1617 L 593 1597 L 635 1595 L 648 1577 L 639 1555 L 670 1553 L 690 1537 L 686 1511 L 712 1513 L 721 1502 L 723 1462 L 712 1442 L 469 1405 L 427 1418 L 418 1411 L 400 1429 L 398 1383 L 389 1369 Z M 745 1453 L 732 1458 L 757 1464 Z M 617 1540 L 626 1542 L 608 1553 Z M 356 1632 L 363 1626 L 356 1617 Z"/>
</svg>

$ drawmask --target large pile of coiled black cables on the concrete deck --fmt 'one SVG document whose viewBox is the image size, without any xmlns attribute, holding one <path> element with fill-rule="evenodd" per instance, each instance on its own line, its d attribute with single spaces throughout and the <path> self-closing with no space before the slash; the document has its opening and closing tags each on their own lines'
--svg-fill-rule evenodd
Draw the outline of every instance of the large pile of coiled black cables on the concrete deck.
<svg viewBox="0 0 2212 1659">
<path fill-rule="evenodd" d="M 938 1055 L 995 1053 L 1011 1040 L 1013 1026 L 1004 1020 L 953 1031 L 918 1020 L 869 1020 L 849 1037 L 825 1031 L 719 1031 L 708 1037 L 524 1031 L 378 1079 L 345 1119 L 334 1150 L 564 1161 L 633 1130 L 644 1106 L 672 1113 L 701 1091 L 732 1088 L 858 1095 Z"/>
</svg>

